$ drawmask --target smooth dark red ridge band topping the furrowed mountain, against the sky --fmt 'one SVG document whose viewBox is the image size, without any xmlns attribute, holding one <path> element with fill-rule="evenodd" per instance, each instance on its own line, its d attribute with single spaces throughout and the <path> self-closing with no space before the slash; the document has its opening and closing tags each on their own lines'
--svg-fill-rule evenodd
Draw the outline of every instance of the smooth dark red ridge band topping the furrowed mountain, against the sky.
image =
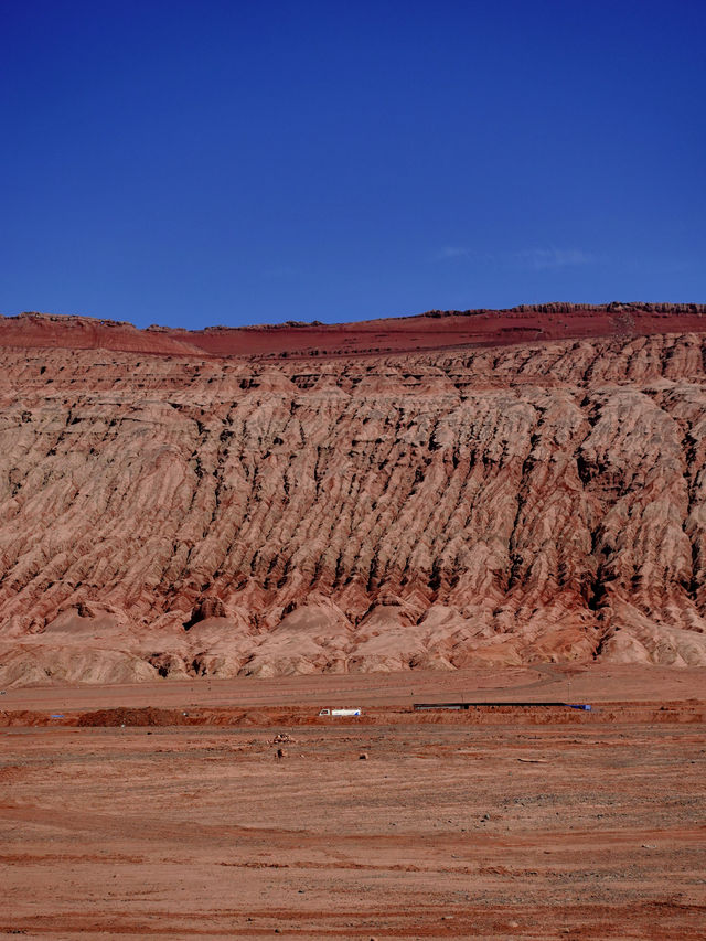
<svg viewBox="0 0 706 941">
<path fill-rule="evenodd" d="M 0 346 L 106 349 L 156 355 L 347 356 L 498 346 L 585 336 L 700 332 L 706 306 L 548 303 L 509 310 L 428 311 L 357 323 L 138 330 L 126 321 L 23 313 L 0 317 Z"/>
</svg>

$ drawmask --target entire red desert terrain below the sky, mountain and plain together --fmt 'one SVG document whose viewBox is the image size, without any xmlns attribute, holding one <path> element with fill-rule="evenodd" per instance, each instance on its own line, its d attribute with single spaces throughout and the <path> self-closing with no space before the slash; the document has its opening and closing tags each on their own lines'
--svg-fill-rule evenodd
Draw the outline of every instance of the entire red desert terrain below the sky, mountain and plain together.
<svg viewBox="0 0 706 941">
<path fill-rule="evenodd" d="M 0 361 L 0 934 L 706 937 L 706 307 Z"/>
</svg>

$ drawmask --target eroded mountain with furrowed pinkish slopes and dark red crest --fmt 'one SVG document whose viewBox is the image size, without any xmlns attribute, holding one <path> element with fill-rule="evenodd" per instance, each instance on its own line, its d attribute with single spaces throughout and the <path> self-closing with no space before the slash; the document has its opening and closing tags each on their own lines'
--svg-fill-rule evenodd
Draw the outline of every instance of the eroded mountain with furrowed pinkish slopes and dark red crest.
<svg viewBox="0 0 706 941">
<path fill-rule="evenodd" d="M 706 665 L 706 309 L 0 318 L 0 685 Z"/>
</svg>

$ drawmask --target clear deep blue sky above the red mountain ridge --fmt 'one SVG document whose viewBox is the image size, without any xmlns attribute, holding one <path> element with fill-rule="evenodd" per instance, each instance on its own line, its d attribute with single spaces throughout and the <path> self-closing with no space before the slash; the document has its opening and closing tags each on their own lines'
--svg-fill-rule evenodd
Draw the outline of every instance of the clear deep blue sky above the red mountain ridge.
<svg viewBox="0 0 706 941">
<path fill-rule="evenodd" d="M 704 0 L 0 0 L 0 313 L 706 301 Z"/>
</svg>

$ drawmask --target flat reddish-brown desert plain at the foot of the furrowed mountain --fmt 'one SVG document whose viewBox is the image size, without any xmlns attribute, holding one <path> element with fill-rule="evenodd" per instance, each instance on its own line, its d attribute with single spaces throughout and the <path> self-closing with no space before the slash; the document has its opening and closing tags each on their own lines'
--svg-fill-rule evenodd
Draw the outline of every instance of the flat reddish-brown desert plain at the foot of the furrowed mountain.
<svg viewBox="0 0 706 941">
<path fill-rule="evenodd" d="M 564 699 L 569 678 L 591 713 L 409 710 Z M 0 937 L 706 938 L 705 678 L 8 691 Z M 332 705 L 365 715 L 317 717 Z"/>
</svg>

